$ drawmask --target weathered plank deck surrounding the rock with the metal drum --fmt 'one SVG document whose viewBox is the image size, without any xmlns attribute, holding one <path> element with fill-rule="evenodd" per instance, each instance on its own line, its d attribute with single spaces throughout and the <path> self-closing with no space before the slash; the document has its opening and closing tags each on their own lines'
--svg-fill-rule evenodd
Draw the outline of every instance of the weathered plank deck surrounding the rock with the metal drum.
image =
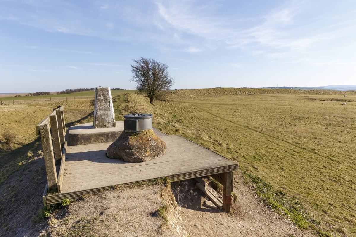
<svg viewBox="0 0 356 237">
<path fill-rule="evenodd" d="M 45 205 L 59 203 L 66 198 L 78 199 L 83 194 L 116 184 L 150 181 L 162 177 L 168 177 L 174 182 L 212 174 L 226 174 L 238 168 L 234 161 L 181 136 L 167 136 L 156 129 L 155 132 L 166 142 L 167 152 L 157 159 L 142 163 L 129 163 L 106 157 L 106 149 L 111 143 L 66 147 L 63 152 L 65 162 L 61 165 L 64 167 L 61 192 L 44 194 Z"/>
</svg>

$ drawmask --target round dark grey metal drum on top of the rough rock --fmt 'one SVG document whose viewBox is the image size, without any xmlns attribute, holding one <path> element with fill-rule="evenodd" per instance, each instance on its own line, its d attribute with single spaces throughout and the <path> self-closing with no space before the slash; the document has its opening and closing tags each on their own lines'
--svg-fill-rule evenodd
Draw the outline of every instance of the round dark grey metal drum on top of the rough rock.
<svg viewBox="0 0 356 237">
<path fill-rule="evenodd" d="M 152 114 L 126 114 L 124 115 L 124 130 L 144 131 L 152 129 Z"/>
</svg>

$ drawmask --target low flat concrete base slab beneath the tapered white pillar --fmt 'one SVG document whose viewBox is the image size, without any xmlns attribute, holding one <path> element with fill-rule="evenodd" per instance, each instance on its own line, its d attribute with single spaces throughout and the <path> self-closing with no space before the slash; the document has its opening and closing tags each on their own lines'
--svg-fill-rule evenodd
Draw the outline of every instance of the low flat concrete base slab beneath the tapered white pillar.
<svg viewBox="0 0 356 237">
<path fill-rule="evenodd" d="M 71 126 L 66 134 L 68 146 L 114 142 L 124 131 L 124 121 L 116 121 L 116 128 L 94 128 L 93 123 Z"/>
</svg>

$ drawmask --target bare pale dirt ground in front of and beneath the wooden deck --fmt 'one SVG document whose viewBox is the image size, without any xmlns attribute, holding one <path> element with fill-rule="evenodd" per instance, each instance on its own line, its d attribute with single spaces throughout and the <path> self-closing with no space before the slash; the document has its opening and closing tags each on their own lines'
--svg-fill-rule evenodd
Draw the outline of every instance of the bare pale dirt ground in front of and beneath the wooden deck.
<svg viewBox="0 0 356 237">
<path fill-rule="evenodd" d="M 242 175 L 235 177 L 234 192 L 238 198 L 232 217 L 221 209 L 204 206 L 206 196 L 194 179 L 172 183 L 177 206 L 163 195 L 163 185 L 107 190 L 85 196 L 59 210 L 47 223 L 40 236 L 312 236 L 299 230 L 256 199 L 243 184 Z M 178 197 L 179 196 L 179 197 Z M 170 206 L 168 225 L 157 215 L 164 205 Z M 28 234 L 31 231 L 27 232 Z M 25 236 L 38 236 L 39 233 Z M 23 236 L 23 235 L 22 235 Z"/>
</svg>

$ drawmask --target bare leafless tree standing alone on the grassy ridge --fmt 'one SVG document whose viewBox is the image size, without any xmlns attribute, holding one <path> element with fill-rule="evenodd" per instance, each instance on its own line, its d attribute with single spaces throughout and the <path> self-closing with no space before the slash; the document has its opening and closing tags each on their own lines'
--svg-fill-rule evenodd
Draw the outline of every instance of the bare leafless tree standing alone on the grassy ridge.
<svg viewBox="0 0 356 237">
<path fill-rule="evenodd" d="M 130 81 L 135 81 L 137 93 L 146 95 L 153 104 L 153 101 L 160 99 L 164 91 L 169 90 L 174 84 L 174 79 L 168 73 L 168 65 L 144 57 L 133 61 L 136 64 L 131 65 L 133 76 Z"/>
</svg>

